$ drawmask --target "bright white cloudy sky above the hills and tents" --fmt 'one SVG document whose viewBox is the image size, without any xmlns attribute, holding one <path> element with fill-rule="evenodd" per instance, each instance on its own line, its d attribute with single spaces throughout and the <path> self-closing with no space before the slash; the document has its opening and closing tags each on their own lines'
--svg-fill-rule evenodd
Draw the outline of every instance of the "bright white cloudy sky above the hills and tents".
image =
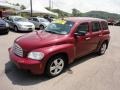
<svg viewBox="0 0 120 90">
<path fill-rule="evenodd" d="M 11 3 L 20 3 L 25 5 L 26 7 L 30 6 L 29 4 L 30 0 L 7 0 L 7 1 Z M 52 0 L 52 1 L 53 8 L 59 8 L 69 13 L 72 12 L 73 8 L 76 8 L 81 12 L 100 10 L 120 14 L 120 0 Z M 42 5 L 46 7 L 49 5 L 49 0 L 33 0 L 33 5 Z"/>
</svg>

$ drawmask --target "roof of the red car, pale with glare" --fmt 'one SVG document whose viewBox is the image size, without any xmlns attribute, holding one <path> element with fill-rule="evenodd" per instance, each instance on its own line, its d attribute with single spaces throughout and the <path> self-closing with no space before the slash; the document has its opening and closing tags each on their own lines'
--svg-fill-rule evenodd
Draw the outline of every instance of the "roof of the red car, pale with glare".
<svg viewBox="0 0 120 90">
<path fill-rule="evenodd" d="M 92 18 L 92 17 L 68 17 L 67 20 L 73 21 L 73 22 L 90 22 L 90 21 L 105 21 L 104 19 L 99 18 Z"/>
</svg>

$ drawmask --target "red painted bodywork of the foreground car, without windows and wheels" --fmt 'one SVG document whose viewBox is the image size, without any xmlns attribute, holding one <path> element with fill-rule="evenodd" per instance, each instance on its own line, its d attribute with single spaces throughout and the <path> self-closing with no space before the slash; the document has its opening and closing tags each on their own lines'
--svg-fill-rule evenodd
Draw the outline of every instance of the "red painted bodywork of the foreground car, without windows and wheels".
<svg viewBox="0 0 120 90">
<path fill-rule="evenodd" d="M 46 63 L 53 55 L 65 53 L 68 56 L 68 63 L 72 63 L 76 58 L 85 56 L 100 48 L 105 40 L 110 39 L 109 30 L 101 30 L 92 32 L 93 21 L 107 22 L 96 18 L 67 18 L 67 20 L 75 22 L 71 31 L 67 35 L 52 34 L 44 31 L 37 31 L 15 40 L 24 50 L 24 57 L 16 56 L 12 48 L 9 49 L 11 60 L 19 67 L 30 70 L 34 74 L 43 74 Z M 89 23 L 89 32 L 85 36 L 75 36 L 76 29 L 81 23 Z M 101 26 L 102 28 L 102 26 Z M 31 51 L 43 52 L 45 57 L 43 60 L 36 61 L 27 58 Z"/>
</svg>

